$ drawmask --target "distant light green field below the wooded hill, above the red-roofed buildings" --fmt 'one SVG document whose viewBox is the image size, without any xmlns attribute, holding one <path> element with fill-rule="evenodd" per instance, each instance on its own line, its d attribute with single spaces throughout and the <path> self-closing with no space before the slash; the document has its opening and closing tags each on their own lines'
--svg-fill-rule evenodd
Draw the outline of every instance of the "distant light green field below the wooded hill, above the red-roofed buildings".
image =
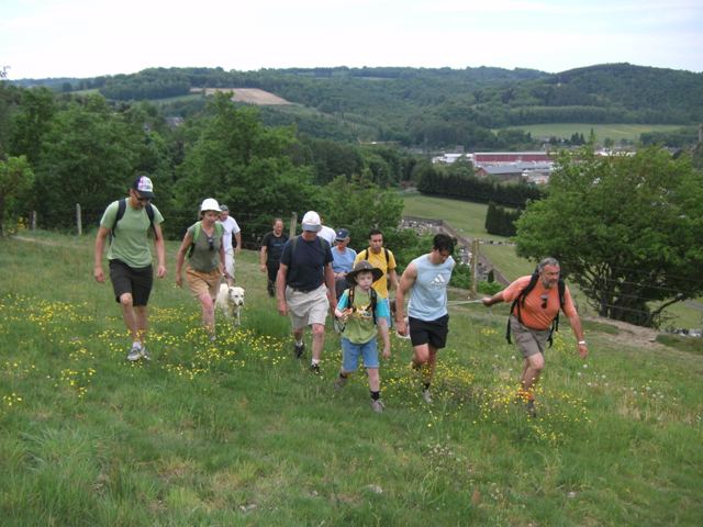
<svg viewBox="0 0 703 527">
<path fill-rule="evenodd" d="M 570 138 L 574 133 L 583 134 L 588 139 L 591 130 L 595 133 L 599 143 L 610 137 L 616 143 L 620 139 L 631 142 L 639 141 L 639 135 L 644 132 L 670 132 L 679 130 L 680 124 L 585 124 L 585 123 L 554 123 L 554 124 L 529 124 L 525 126 L 512 126 L 525 132 L 529 132 L 533 137 L 562 137 Z"/>
</svg>

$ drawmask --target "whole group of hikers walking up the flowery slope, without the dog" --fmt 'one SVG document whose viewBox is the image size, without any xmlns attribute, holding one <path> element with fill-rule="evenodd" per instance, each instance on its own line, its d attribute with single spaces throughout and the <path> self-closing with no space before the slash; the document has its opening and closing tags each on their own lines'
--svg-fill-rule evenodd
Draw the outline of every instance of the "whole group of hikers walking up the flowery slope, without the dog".
<svg viewBox="0 0 703 527">
<path fill-rule="evenodd" d="M 93 276 L 98 282 L 105 281 L 102 258 L 105 240 L 110 239 L 107 255 L 110 280 L 132 338 L 127 354 L 131 361 L 150 358 L 145 344 L 147 303 L 154 279 L 149 231 L 156 249 L 156 276 L 164 278 L 167 272 L 160 229 L 164 216 L 152 204 L 153 199 L 150 179 L 137 177 L 127 198 L 105 209 L 96 237 Z M 186 281 L 201 305 L 203 326 L 212 340 L 217 290 L 223 278 L 228 285 L 234 283 L 234 255 L 242 247 L 239 226 L 228 213 L 227 206 L 216 200 L 203 200 L 200 220 L 188 227 L 176 261 L 176 283 L 182 287 L 185 265 Z M 302 234 L 289 239 L 282 220 L 276 218 L 272 231 L 261 239 L 259 255 L 268 294 L 276 298 L 280 315 L 290 317 L 293 356 L 303 357 L 304 332 L 310 327 L 310 370 L 320 373 L 325 323 L 328 313 L 333 313 L 343 355 L 334 386 L 342 389 L 361 359 L 368 374 L 371 407 L 380 413 L 384 404 L 380 396 L 377 340 L 380 336 L 381 356 L 388 359 L 389 328 L 394 325 L 399 336 L 411 340 L 410 366 L 420 373 L 422 396 L 431 404 L 437 354 L 446 346 L 449 330 L 447 288 L 456 265 L 451 256 L 455 239 L 436 234 L 432 250 L 413 259 L 399 278 L 395 258 L 383 246 L 381 231 L 372 229 L 368 247 L 357 254 L 348 246 L 349 231 L 323 225 L 315 211 L 304 214 L 301 226 Z M 393 299 L 390 290 L 394 290 Z M 532 276 L 521 277 L 503 291 L 482 299 L 486 306 L 500 302 L 512 302 L 506 336 L 509 341 L 511 336 L 514 338 L 524 358 L 517 396 L 528 414 L 535 416 L 534 389 L 545 367 L 545 350 L 558 325 L 559 312 L 569 319 L 578 352 L 585 358 L 583 328 L 569 288 L 560 279 L 559 262 L 554 258 L 542 260 Z"/>
</svg>

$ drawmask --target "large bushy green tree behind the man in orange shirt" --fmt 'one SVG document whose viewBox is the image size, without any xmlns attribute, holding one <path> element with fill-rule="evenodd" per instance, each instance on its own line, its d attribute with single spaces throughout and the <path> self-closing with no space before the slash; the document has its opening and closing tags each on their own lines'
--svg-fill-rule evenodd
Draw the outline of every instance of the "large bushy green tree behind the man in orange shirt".
<svg viewBox="0 0 703 527">
<path fill-rule="evenodd" d="M 517 221 L 520 256 L 557 257 L 599 314 L 647 326 L 703 292 L 701 239 L 703 172 L 660 148 L 562 154 Z"/>
</svg>

